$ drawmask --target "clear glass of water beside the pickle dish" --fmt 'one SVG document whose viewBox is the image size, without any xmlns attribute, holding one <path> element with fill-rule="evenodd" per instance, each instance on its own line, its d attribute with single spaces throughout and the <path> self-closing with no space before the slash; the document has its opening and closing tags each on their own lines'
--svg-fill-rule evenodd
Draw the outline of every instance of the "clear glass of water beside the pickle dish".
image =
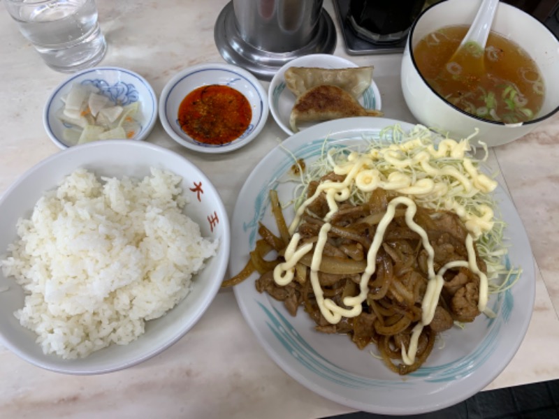
<svg viewBox="0 0 559 419">
<path fill-rule="evenodd" d="M 56 71 L 73 73 L 107 50 L 94 0 L 4 0 L 20 31 Z"/>
</svg>

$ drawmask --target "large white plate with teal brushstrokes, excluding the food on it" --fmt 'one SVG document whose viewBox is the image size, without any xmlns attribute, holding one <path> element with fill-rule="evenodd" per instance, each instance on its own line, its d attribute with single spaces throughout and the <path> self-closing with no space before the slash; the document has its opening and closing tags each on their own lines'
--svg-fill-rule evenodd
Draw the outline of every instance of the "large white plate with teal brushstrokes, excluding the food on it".
<svg viewBox="0 0 559 419">
<path fill-rule="evenodd" d="M 239 272 L 247 263 L 259 221 L 276 230 L 268 191 L 277 189 L 283 203 L 292 198 L 293 182 L 276 181 L 289 177 L 286 172 L 293 165 L 293 156 L 310 162 L 319 156 L 326 136 L 330 144 L 347 145 L 363 142 L 363 138 L 379 138 L 379 131 L 393 124 L 412 127 L 384 118 L 339 119 L 293 135 L 273 149 L 248 177 L 235 206 L 231 272 Z M 401 377 L 390 372 L 368 349 L 359 351 L 346 336 L 315 332 L 314 322 L 302 309 L 292 317 L 282 302 L 258 293 L 254 287 L 256 274 L 235 286 L 242 314 L 279 367 L 335 402 L 393 415 L 425 413 L 461 402 L 491 383 L 507 366 L 525 335 L 534 304 L 530 242 L 507 194 L 499 187 L 495 195 L 507 223 L 509 256 L 505 263 L 522 267 L 523 274 L 509 291 L 491 297 L 488 307 L 498 312 L 496 318 L 479 316 L 465 330 L 445 332 L 444 348 L 437 341 L 426 365 L 413 374 Z M 288 223 L 293 216 L 289 210 L 284 212 Z"/>
</svg>

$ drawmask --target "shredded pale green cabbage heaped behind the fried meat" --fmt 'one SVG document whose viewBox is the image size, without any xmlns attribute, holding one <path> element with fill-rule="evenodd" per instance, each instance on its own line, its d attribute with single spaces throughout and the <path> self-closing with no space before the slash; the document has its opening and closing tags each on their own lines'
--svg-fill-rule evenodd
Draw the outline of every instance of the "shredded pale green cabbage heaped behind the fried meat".
<svg viewBox="0 0 559 419">
<path fill-rule="evenodd" d="M 468 214 L 473 217 L 491 215 L 490 222 L 482 223 L 479 234 L 474 237 L 476 237 L 479 256 L 487 265 L 489 292 L 506 291 L 514 285 L 522 271 L 520 268 L 509 267 L 503 262 L 508 253 L 507 248 L 504 247 L 505 225 L 500 220 L 499 214 L 494 214 L 498 211 L 498 207 L 491 193 L 497 186 L 497 182 L 492 179 L 494 175 L 488 177 L 479 170 L 481 163 L 484 163 L 488 157 L 486 145 L 481 143 L 485 151 L 483 159 L 475 159 L 468 154 L 475 152 L 474 147 L 470 145 L 470 138 L 456 142 L 443 138 L 420 125 L 415 126 L 409 132 L 402 130 L 397 125 L 387 127 L 381 131 L 378 138 L 363 138 L 368 144 L 365 149 L 362 145 L 354 147 L 329 145 L 328 138 L 326 138 L 319 159 L 310 164 L 305 163 L 306 170 L 299 170 L 300 179 L 294 189 L 293 200 L 288 205 L 293 204 L 297 209 L 307 197 L 310 182 L 332 172 L 335 166 L 347 163 L 348 159 L 352 158 L 352 153 L 358 149 L 360 154 L 371 156 L 374 168 L 380 172 L 382 179 L 388 179 L 394 172 L 399 172 L 411 178 L 412 183 L 421 179 L 431 179 L 435 184 L 442 185 L 433 193 L 409 196 L 422 207 L 433 210 L 454 210 L 454 212 L 457 212 L 456 208 L 458 208 L 465 212 L 464 214 L 460 214 L 460 211 L 457 212 L 463 219 L 467 219 Z M 452 144 L 453 147 L 447 147 L 447 151 L 443 152 L 445 141 L 447 141 L 447 145 Z M 422 160 L 426 152 L 431 157 L 428 164 Z M 295 156 L 293 159 L 296 161 Z M 465 160 L 470 161 L 471 165 L 465 165 Z M 400 164 L 402 161 L 409 164 Z M 433 170 L 435 175 L 429 173 L 432 168 L 435 169 Z M 456 176 L 441 175 L 441 172 L 456 172 Z M 483 182 L 479 182 L 481 185 L 474 182 L 476 173 L 484 177 L 481 179 Z M 465 186 L 458 180 L 460 176 L 467 179 L 472 186 L 466 187 L 467 182 Z M 483 184 L 484 182 L 485 184 Z M 365 193 L 354 186 L 351 190 L 350 200 L 354 205 L 359 205 L 367 202 L 369 196 L 370 193 Z M 491 212 L 486 214 L 488 210 Z M 468 224 L 465 224 L 468 228 Z M 470 230 L 470 228 L 468 229 Z M 472 233 L 471 230 L 470 233 Z M 502 277 L 504 277 L 504 281 L 498 281 Z M 489 311 L 486 314 L 491 316 Z"/>
</svg>

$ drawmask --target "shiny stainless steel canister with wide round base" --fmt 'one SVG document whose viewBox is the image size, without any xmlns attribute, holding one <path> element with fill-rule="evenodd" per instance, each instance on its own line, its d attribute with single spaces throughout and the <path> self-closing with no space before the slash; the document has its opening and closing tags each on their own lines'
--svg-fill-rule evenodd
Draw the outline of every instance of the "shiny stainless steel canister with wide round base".
<svg viewBox="0 0 559 419">
<path fill-rule="evenodd" d="M 270 80 L 292 59 L 331 54 L 334 23 L 323 0 L 231 0 L 219 13 L 215 43 L 222 57 Z"/>
</svg>

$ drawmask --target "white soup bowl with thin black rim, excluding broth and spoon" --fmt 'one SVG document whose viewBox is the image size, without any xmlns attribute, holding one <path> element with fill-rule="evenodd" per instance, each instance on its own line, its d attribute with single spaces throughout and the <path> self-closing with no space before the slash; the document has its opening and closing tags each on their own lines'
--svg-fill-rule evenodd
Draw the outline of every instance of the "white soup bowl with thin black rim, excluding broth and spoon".
<svg viewBox="0 0 559 419">
<path fill-rule="evenodd" d="M 470 25 L 480 3 L 481 0 L 447 0 L 423 10 L 409 31 L 402 57 L 401 83 L 407 106 L 421 124 L 458 139 L 479 130 L 472 144 L 481 141 L 494 147 L 521 138 L 558 112 L 559 40 L 534 17 L 514 6 L 499 3 L 491 30 L 522 47 L 536 62 L 545 87 L 542 108 L 534 119 L 517 124 L 491 121 L 460 110 L 423 78 L 414 57 L 414 47 L 424 36 L 442 27 Z"/>
</svg>

